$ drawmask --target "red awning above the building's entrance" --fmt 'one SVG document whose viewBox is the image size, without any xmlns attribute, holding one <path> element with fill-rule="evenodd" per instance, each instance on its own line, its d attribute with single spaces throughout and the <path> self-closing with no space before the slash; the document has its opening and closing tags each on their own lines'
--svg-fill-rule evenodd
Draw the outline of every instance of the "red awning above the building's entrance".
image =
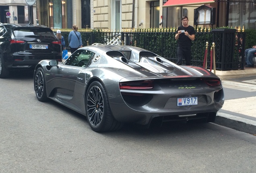
<svg viewBox="0 0 256 173">
<path fill-rule="evenodd" d="M 214 3 L 215 0 L 168 0 L 163 7 Z"/>
</svg>

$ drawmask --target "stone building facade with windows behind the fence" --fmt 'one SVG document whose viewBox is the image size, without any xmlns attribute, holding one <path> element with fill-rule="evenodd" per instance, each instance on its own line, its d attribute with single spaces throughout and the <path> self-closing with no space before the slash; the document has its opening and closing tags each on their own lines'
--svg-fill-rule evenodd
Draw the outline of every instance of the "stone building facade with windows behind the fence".
<svg viewBox="0 0 256 173">
<path fill-rule="evenodd" d="M 188 16 L 194 26 L 194 10 L 202 5 L 214 8 L 211 27 L 244 26 L 256 29 L 256 0 L 1 0 L 0 22 L 33 23 L 52 29 L 78 28 L 120 31 L 126 28 L 170 28 Z M 9 12 L 9 13 L 7 13 Z M 9 16 L 7 16 L 7 14 Z M 204 12 L 202 12 L 204 13 Z M 207 13 L 207 12 L 205 12 Z M 207 17 L 207 16 L 206 16 Z M 201 24 L 209 26 L 209 24 Z"/>
</svg>

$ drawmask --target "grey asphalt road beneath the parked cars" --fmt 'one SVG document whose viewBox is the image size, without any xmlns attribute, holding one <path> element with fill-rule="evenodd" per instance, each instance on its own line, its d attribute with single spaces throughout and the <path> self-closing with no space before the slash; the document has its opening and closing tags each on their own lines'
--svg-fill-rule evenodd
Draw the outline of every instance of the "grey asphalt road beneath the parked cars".
<svg viewBox="0 0 256 173">
<path fill-rule="evenodd" d="M 0 79 L 0 173 L 255 173 L 256 136 L 176 124 L 95 133 L 82 115 L 37 101 L 33 74 Z"/>
</svg>

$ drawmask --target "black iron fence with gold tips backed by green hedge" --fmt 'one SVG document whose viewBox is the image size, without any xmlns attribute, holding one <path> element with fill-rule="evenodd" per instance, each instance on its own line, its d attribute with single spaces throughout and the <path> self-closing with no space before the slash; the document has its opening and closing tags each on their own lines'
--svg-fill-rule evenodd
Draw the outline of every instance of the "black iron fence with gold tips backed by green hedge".
<svg viewBox="0 0 256 173">
<path fill-rule="evenodd" d="M 68 49 L 68 34 L 70 29 L 62 29 L 62 36 Z M 123 30 L 122 32 L 81 29 L 83 45 L 93 43 L 108 44 L 118 40 L 119 44 L 137 46 L 150 50 L 172 62 L 177 58 L 176 30 L 173 29 L 138 29 Z M 215 43 L 216 70 L 244 69 L 245 32 L 235 29 L 200 29 L 196 30 L 195 40 L 192 42 L 192 60 L 194 66 L 203 66 L 206 42 L 209 43 L 207 55 L 211 57 L 211 46 Z M 242 40 L 240 42 L 240 40 Z M 208 58 L 207 66 L 210 66 Z"/>
</svg>

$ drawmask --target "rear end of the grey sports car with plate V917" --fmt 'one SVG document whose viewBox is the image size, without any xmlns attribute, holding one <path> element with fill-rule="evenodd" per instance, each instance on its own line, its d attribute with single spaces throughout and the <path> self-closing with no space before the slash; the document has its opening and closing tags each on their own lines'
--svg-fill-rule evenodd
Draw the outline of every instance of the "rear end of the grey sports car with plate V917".
<svg viewBox="0 0 256 173">
<path fill-rule="evenodd" d="M 120 93 L 125 105 L 116 104 L 113 114 L 119 115 L 116 118 L 120 121 L 137 119 L 142 125 L 154 117 L 162 117 L 163 121 L 213 122 L 224 103 L 221 81 L 209 77 L 121 81 Z"/>
</svg>

